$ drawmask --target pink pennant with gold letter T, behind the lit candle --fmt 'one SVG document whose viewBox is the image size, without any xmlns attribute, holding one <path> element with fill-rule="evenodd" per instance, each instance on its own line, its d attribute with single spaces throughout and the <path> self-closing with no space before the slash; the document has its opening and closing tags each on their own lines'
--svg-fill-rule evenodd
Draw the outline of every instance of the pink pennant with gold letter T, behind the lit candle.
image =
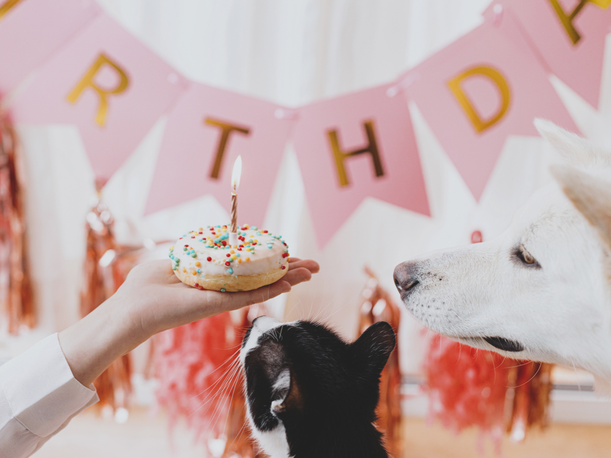
<svg viewBox="0 0 611 458">
<path fill-rule="evenodd" d="M 192 83 L 169 115 L 145 214 L 205 194 L 229 212 L 233 163 L 241 155 L 238 223 L 262 224 L 294 124 L 290 114 L 273 103 Z"/>
</svg>

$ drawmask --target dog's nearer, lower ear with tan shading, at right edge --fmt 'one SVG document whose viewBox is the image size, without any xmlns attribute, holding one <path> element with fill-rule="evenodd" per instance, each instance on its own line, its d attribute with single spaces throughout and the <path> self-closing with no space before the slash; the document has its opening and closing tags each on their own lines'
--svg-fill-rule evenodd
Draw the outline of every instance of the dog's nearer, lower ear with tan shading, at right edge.
<svg viewBox="0 0 611 458">
<path fill-rule="evenodd" d="M 611 183 L 569 166 L 554 165 L 550 170 L 569 200 L 611 249 Z"/>
</svg>

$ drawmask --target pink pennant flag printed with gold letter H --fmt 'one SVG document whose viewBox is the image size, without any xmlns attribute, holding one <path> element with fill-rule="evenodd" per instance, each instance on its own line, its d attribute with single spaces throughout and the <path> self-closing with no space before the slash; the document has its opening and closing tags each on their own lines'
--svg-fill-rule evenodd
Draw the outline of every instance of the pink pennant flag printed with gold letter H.
<svg viewBox="0 0 611 458">
<path fill-rule="evenodd" d="M 293 142 L 321 248 L 366 197 L 430 215 L 408 106 L 389 89 L 299 109 Z"/>
</svg>

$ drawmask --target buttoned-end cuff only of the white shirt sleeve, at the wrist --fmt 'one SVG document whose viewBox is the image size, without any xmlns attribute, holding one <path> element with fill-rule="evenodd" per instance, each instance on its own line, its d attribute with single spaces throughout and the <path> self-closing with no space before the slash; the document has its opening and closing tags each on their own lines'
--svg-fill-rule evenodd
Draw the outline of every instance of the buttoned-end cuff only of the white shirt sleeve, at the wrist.
<svg viewBox="0 0 611 458">
<path fill-rule="evenodd" d="M 57 333 L 2 364 L 0 388 L 13 416 L 40 437 L 98 401 L 93 385 L 87 388 L 72 375 Z"/>
</svg>

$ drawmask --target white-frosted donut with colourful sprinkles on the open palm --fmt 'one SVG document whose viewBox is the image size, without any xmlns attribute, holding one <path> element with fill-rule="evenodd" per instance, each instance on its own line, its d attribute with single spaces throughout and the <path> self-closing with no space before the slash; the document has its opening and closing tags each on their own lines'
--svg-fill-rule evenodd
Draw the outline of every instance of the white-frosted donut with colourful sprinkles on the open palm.
<svg viewBox="0 0 611 458">
<path fill-rule="evenodd" d="M 191 231 L 170 247 L 172 270 L 183 283 L 216 291 L 257 289 L 287 273 L 288 245 L 281 235 L 245 224 L 238 238 L 239 245 L 229 245 L 227 226 Z"/>
</svg>

